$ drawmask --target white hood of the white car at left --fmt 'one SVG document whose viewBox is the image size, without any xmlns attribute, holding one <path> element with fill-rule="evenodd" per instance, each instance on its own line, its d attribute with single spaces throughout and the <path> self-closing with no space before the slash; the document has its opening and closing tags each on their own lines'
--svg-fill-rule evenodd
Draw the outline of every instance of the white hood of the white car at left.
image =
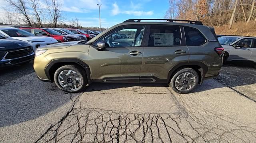
<svg viewBox="0 0 256 143">
<path fill-rule="evenodd" d="M 47 43 L 56 43 L 58 42 L 56 39 L 52 37 L 46 37 L 46 36 L 28 36 L 28 37 L 12 37 L 14 39 L 19 39 L 22 41 L 44 41 Z"/>
</svg>

